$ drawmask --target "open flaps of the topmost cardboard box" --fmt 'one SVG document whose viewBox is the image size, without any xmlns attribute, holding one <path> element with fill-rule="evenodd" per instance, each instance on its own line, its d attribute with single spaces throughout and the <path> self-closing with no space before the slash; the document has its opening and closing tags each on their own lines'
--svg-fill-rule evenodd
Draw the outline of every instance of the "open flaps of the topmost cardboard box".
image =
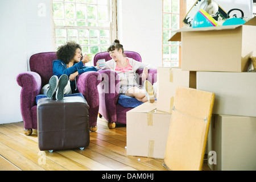
<svg viewBox="0 0 256 182">
<path fill-rule="evenodd" d="M 256 26 L 256 16 L 246 22 L 244 25 L 251 25 Z M 230 25 L 230 26 L 218 26 L 218 27 L 203 27 L 203 28 L 191 28 L 191 27 L 184 27 L 180 28 L 168 41 L 181 41 L 181 32 L 191 32 L 191 31 L 210 31 L 210 30 L 232 30 L 237 27 L 243 26 L 242 24 L 237 25 Z"/>
</svg>

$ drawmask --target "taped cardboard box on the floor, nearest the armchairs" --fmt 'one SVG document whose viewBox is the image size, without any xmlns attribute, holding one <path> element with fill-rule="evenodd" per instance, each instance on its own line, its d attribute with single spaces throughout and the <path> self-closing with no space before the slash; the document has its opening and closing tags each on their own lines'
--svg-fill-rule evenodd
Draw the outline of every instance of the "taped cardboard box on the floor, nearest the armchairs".
<svg viewBox="0 0 256 182">
<path fill-rule="evenodd" d="M 156 110 L 156 103 L 127 111 L 127 155 L 164 158 L 171 114 Z"/>
</svg>

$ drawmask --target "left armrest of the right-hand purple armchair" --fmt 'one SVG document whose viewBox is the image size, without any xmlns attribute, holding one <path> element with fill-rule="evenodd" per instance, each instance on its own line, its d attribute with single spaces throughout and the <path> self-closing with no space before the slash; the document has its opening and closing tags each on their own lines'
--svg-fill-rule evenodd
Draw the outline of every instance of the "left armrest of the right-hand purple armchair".
<svg viewBox="0 0 256 182">
<path fill-rule="evenodd" d="M 117 121 L 117 101 L 119 96 L 119 76 L 109 69 L 98 71 L 101 73 L 102 82 L 98 86 L 101 110 L 100 113 L 107 121 Z"/>
</svg>

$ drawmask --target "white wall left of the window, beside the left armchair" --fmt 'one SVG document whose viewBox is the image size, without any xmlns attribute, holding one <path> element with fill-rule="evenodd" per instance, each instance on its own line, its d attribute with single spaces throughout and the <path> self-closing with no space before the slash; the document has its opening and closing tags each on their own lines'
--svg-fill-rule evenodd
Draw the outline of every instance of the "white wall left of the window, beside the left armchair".
<svg viewBox="0 0 256 182">
<path fill-rule="evenodd" d="M 0 0 L 0 124 L 23 121 L 16 76 L 33 53 L 52 50 L 50 10 L 50 0 Z"/>
</svg>

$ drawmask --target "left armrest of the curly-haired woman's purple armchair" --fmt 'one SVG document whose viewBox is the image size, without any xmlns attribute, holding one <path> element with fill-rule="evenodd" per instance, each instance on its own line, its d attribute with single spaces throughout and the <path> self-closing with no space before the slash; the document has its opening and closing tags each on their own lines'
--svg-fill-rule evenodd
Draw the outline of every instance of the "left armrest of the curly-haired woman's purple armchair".
<svg viewBox="0 0 256 182">
<path fill-rule="evenodd" d="M 36 72 L 22 72 L 16 77 L 20 91 L 20 111 L 23 121 L 32 125 L 31 108 L 36 105 L 35 98 L 40 94 L 42 80 Z"/>
</svg>

